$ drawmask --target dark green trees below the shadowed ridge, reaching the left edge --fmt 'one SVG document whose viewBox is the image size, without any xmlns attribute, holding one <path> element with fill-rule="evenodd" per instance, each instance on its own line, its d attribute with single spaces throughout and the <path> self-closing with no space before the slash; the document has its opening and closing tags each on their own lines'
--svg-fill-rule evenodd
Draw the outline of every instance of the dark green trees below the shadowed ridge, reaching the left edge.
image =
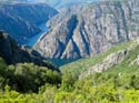
<svg viewBox="0 0 139 103">
<path fill-rule="evenodd" d="M 46 83 L 57 86 L 61 83 L 61 74 L 57 71 L 33 63 L 7 66 L 2 59 L 0 59 L 0 75 L 1 89 L 8 84 L 19 92 L 38 92 Z"/>
</svg>

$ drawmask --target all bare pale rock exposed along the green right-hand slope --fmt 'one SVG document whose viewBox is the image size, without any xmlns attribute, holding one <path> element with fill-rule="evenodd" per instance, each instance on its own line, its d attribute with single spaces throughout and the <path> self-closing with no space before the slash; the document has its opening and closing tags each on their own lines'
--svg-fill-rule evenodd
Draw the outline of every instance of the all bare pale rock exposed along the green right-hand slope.
<svg viewBox="0 0 139 103">
<path fill-rule="evenodd" d="M 82 72 L 79 78 L 82 79 L 93 73 L 100 73 L 122 63 L 126 56 L 129 55 L 129 52 L 135 50 L 137 47 L 139 47 L 138 41 L 133 40 L 133 42 L 126 49 L 112 52 L 107 55 L 101 62 L 98 62 L 97 64 L 88 68 L 87 71 Z M 138 63 L 138 59 L 136 59 L 129 65 Z"/>
</svg>

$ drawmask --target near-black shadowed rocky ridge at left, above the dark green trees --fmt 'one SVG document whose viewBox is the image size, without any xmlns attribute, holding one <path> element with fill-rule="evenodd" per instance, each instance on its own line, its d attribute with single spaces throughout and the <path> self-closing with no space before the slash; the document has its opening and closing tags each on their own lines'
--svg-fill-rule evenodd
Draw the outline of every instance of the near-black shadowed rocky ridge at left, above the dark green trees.
<svg viewBox="0 0 139 103">
<path fill-rule="evenodd" d="M 27 47 L 18 47 L 17 42 L 7 33 L 0 31 L 0 56 L 4 59 L 8 64 L 31 62 L 37 65 L 56 69 L 54 65 L 43 62 L 42 58 L 37 51 L 28 49 Z"/>
</svg>

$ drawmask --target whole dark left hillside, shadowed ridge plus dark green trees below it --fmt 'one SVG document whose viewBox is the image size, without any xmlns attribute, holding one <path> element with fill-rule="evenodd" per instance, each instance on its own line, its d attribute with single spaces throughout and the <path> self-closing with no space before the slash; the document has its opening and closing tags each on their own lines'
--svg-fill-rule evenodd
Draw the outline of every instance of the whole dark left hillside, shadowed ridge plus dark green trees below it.
<svg viewBox="0 0 139 103">
<path fill-rule="evenodd" d="M 38 93 L 46 83 L 61 83 L 59 69 L 34 50 L 18 47 L 10 35 L 0 31 L 0 89 L 10 86 L 20 93 Z"/>
</svg>

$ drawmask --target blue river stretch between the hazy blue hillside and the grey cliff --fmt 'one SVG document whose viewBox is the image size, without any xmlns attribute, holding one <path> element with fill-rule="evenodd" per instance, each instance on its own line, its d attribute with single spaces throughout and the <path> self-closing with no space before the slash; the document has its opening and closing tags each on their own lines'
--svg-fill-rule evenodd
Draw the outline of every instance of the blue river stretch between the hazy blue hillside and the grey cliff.
<svg viewBox="0 0 139 103">
<path fill-rule="evenodd" d="M 30 48 L 32 48 L 36 44 L 36 42 L 39 40 L 39 38 L 43 34 L 46 34 L 49 30 L 48 27 L 46 25 L 46 23 L 39 25 L 39 28 L 41 29 L 41 32 L 38 33 L 37 35 L 34 35 L 33 38 L 31 38 L 29 40 L 29 42 L 27 43 L 27 45 L 29 45 Z"/>
</svg>

